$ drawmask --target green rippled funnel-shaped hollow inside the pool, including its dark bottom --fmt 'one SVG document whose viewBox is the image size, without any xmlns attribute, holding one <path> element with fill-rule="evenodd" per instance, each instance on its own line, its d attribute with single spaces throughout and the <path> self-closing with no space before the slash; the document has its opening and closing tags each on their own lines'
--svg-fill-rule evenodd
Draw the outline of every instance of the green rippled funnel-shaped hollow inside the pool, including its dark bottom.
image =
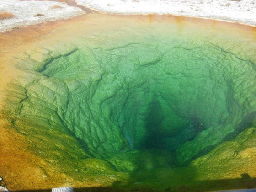
<svg viewBox="0 0 256 192">
<path fill-rule="evenodd" d="M 139 47 L 140 44 L 133 45 L 133 49 Z M 140 57 L 134 50 L 130 53 L 129 47 L 120 48 L 123 55 L 118 57 L 111 53 L 115 50 L 107 51 L 106 56 L 104 51 L 97 50 L 96 55 L 101 55 L 101 62 L 105 60 L 106 68 L 102 67 L 104 62 L 101 67 L 91 65 L 99 59 L 90 56 L 88 60 L 87 48 L 74 48 L 48 61 L 39 72 L 47 80 L 61 82 L 68 88 L 60 117 L 65 126 L 85 142 L 90 154 L 106 160 L 116 152 L 164 149 L 177 156 L 177 164 L 187 165 L 229 139 L 229 134 L 237 135 L 246 128 L 240 126 L 237 132 L 229 129 L 237 126 L 234 111 L 229 108 L 245 115 L 239 112 L 234 98 L 236 75 L 233 73 L 238 71 L 233 65 L 243 63 L 250 67 L 251 64 L 236 57 L 226 61 L 227 64 L 215 63 L 209 57 L 216 56 L 211 53 L 216 52 L 216 48 L 207 48 L 206 51 L 206 48 L 197 48 L 204 49 L 201 56 L 197 49 L 172 48 L 166 51 L 167 56 L 160 53 L 150 61 L 139 63 L 124 59 Z M 171 55 L 172 52 L 182 54 L 183 58 Z M 191 52 L 201 58 L 193 58 Z M 204 56 L 205 52 L 208 57 Z M 221 54 L 224 58 L 230 57 L 230 53 Z M 189 62 L 184 57 L 189 58 Z M 224 133 L 212 144 L 202 143 L 193 151 L 196 138 L 210 134 L 208 130 L 214 127 L 230 133 Z M 187 152 L 183 153 L 184 149 Z"/>
</svg>

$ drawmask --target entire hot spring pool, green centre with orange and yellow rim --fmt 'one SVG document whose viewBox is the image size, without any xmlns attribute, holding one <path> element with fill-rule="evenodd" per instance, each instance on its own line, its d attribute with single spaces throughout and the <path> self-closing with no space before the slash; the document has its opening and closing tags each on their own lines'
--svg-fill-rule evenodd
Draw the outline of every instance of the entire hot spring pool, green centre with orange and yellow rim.
<svg viewBox="0 0 256 192">
<path fill-rule="evenodd" d="M 256 187 L 255 28 L 91 14 L 0 39 L 1 185 Z"/>
</svg>

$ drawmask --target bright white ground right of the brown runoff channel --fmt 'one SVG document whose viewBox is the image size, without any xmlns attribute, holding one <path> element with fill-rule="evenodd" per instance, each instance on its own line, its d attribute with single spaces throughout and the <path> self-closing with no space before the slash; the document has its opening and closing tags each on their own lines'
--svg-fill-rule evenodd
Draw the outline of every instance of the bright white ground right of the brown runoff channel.
<svg viewBox="0 0 256 192">
<path fill-rule="evenodd" d="M 173 14 L 256 26 L 256 0 L 76 0 L 80 5 L 120 14 Z"/>
</svg>

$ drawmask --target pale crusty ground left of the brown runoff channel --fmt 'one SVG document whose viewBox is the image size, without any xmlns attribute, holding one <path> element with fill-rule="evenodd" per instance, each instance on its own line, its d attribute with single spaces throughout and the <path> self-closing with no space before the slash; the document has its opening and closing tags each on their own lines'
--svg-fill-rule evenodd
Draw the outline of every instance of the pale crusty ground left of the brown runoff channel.
<svg viewBox="0 0 256 192">
<path fill-rule="evenodd" d="M 81 9 L 68 6 L 65 3 L 35 0 L 0 0 L 0 13 L 4 11 L 14 14 L 14 17 L 0 20 L 0 32 L 45 21 L 66 19 L 85 13 Z"/>
</svg>

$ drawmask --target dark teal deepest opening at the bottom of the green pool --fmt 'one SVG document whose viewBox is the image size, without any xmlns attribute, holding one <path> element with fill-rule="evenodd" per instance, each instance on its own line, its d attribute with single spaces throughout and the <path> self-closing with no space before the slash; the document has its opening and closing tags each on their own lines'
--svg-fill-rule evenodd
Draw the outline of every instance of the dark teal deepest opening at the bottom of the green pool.
<svg viewBox="0 0 256 192">
<path fill-rule="evenodd" d="M 144 127 L 146 129 L 145 137 L 140 145 L 133 149 L 166 149 L 174 152 L 186 141 L 193 140 L 205 128 L 203 122 L 198 117 L 184 117 L 185 126 L 181 132 L 166 135 L 161 132 L 161 126 L 164 119 L 161 106 L 157 99 L 153 99 L 148 107 L 148 112 L 144 116 Z M 171 122 L 168 126 L 172 126 Z M 171 143 L 170 144 L 168 144 Z"/>
</svg>

